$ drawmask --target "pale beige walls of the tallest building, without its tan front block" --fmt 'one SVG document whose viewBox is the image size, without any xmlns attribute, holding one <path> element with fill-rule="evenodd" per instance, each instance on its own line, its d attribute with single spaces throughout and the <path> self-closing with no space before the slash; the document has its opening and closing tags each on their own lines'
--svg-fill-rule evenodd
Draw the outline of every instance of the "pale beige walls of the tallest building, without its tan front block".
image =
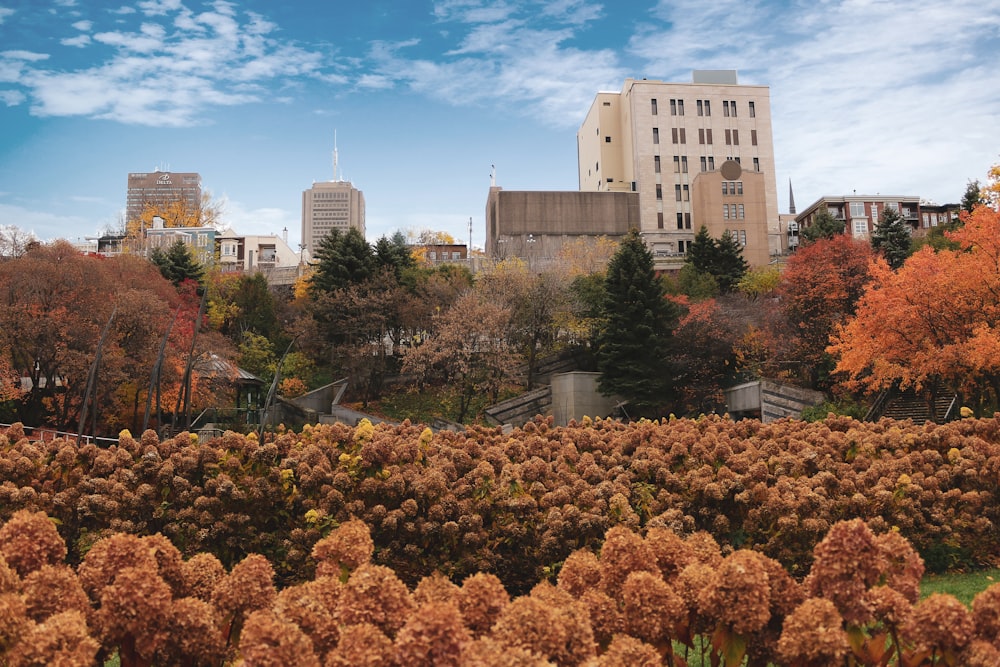
<svg viewBox="0 0 1000 667">
<path fill-rule="evenodd" d="M 722 77 L 722 80 L 736 80 L 735 73 L 727 74 L 731 76 Z M 656 100 L 655 113 L 653 100 Z M 700 116 L 699 100 L 703 103 Z M 683 102 L 683 113 L 680 102 Z M 710 115 L 705 113 L 705 102 Z M 753 116 L 750 115 L 751 102 Z M 725 113 L 727 106 L 735 107 L 735 115 Z M 658 143 L 654 143 L 654 128 L 659 135 Z M 699 141 L 699 130 L 706 132 L 705 143 Z M 708 130 L 712 131 L 711 144 L 707 143 Z M 726 130 L 730 132 L 729 144 L 726 143 Z M 674 143 L 675 131 L 677 143 Z M 756 145 L 752 140 L 754 133 Z M 610 142 L 607 137 L 611 138 Z M 735 137 L 738 137 L 738 145 L 734 142 Z M 716 169 L 729 158 L 739 158 L 744 170 L 759 169 L 763 176 L 765 230 L 767 226 L 777 227 L 778 198 L 767 86 L 626 79 L 620 93 L 597 95 L 577 133 L 577 144 L 581 190 L 630 190 L 635 181 L 640 228 L 657 257 L 658 268 L 679 265 L 698 228 L 710 222 L 698 219 L 691 199 L 694 179 L 702 171 L 702 158 L 705 158 L 706 171 L 711 171 L 709 158 Z M 659 173 L 655 168 L 657 157 Z M 598 162 L 600 169 L 596 168 Z M 657 185 L 660 197 L 657 197 Z M 677 200 L 677 186 L 681 188 L 680 201 Z M 678 213 L 681 214 L 680 229 Z M 755 258 L 751 261 L 754 266 L 769 261 L 766 231 L 763 252 L 754 249 L 750 254 Z"/>
</svg>

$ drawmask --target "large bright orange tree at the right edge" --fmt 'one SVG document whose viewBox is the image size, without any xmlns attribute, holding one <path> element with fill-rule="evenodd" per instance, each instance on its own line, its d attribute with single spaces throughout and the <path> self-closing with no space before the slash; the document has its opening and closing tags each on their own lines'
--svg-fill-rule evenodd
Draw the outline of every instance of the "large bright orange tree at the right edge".
<svg viewBox="0 0 1000 667">
<path fill-rule="evenodd" d="M 898 272 L 872 262 L 829 351 L 851 388 L 955 392 L 987 412 L 1000 407 L 1000 212 L 979 206 L 947 235 L 957 250 L 923 248 Z"/>
</svg>

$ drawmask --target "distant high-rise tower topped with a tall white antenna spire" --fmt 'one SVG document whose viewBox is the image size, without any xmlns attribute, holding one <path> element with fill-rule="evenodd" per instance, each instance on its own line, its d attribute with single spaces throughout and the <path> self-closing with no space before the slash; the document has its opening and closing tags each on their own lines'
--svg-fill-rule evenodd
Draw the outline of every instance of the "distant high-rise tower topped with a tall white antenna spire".
<svg viewBox="0 0 1000 667">
<path fill-rule="evenodd" d="M 337 148 L 333 148 L 333 180 L 319 181 L 302 193 L 302 245 L 316 251 L 323 237 L 334 229 L 354 227 L 365 234 L 365 196 L 338 173 Z"/>
</svg>

